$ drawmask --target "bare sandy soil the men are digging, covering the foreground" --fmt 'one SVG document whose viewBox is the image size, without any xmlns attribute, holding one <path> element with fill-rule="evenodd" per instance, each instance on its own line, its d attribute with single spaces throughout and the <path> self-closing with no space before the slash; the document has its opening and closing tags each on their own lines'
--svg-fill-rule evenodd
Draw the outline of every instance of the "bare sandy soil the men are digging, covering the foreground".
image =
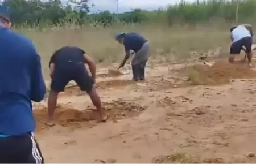
<svg viewBox="0 0 256 164">
<path fill-rule="evenodd" d="M 77 87 L 60 94 L 55 127 L 44 126 L 46 103 L 35 104 L 46 162 L 256 162 L 256 72 L 202 63 L 150 61 L 143 83 L 129 81 L 129 66 L 122 73 L 99 69 L 107 123 L 97 122 L 89 97 Z"/>
</svg>

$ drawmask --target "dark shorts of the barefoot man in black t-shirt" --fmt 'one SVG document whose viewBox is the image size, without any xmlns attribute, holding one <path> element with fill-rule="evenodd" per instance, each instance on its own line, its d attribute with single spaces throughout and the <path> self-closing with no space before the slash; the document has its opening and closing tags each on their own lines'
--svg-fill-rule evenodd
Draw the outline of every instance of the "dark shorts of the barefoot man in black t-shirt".
<svg viewBox="0 0 256 164">
<path fill-rule="evenodd" d="M 93 79 L 88 75 L 84 63 L 67 63 L 65 67 L 55 68 L 51 90 L 63 92 L 71 80 L 75 81 L 82 91 L 90 92 L 93 88 Z"/>
</svg>

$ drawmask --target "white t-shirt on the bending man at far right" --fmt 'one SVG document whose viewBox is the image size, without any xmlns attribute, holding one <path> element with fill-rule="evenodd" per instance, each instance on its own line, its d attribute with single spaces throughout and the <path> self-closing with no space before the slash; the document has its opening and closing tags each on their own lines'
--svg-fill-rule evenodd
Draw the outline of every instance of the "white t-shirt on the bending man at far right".
<svg viewBox="0 0 256 164">
<path fill-rule="evenodd" d="M 244 25 L 238 25 L 237 28 L 232 31 L 233 42 L 241 40 L 245 37 L 251 37 L 250 31 Z"/>
</svg>

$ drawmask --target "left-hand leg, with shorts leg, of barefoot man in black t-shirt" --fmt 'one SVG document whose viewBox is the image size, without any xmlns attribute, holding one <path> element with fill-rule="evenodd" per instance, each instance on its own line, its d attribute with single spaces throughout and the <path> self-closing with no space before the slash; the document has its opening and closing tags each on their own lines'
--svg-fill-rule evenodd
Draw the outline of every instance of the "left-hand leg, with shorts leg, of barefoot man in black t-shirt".
<svg viewBox="0 0 256 164">
<path fill-rule="evenodd" d="M 48 122 L 46 123 L 48 126 L 55 126 L 53 115 L 57 106 L 57 96 L 64 91 L 65 86 L 70 81 L 67 75 L 68 72 L 65 73 L 66 75 L 62 74 L 61 70 L 57 70 L 52 79 L 51 91 L 48 97 Z"/>
</svg>

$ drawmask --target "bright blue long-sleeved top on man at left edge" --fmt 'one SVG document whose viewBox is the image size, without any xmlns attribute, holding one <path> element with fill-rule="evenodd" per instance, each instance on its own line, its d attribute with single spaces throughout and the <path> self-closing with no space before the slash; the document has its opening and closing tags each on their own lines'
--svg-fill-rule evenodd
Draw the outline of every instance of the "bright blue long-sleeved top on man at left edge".
<svg viewBox="0 0 256 164">
<path fill-rule="evenodd" d="M 46 86 L 40 57 L 28 38 L 0 28 L 0 134 L 35 130 L 32 101 L 42 101 Z"/>
</svg>

